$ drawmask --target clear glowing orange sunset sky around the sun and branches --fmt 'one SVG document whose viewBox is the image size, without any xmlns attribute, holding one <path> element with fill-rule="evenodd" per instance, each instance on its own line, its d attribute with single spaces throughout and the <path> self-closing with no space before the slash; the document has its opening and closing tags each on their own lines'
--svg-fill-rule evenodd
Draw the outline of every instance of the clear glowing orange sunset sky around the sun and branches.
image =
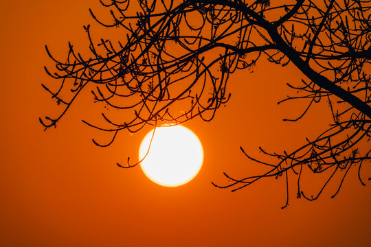
<svg viewBox="0 0 371 247">
<path fill-rule="evenodd" d="M 101 133 L 81 122 L 98 114 L 89 97 L 56 130 L 43 132 L 38 117 L 57 113 L 41 87 L 55 82 L 43 70 L 52 67 L 44 46 L 61 57 L 68 40 L 87 47 L 82 25 L 93 22 L 88 8 L 98 6 L 98 0 L 0 3 L 0 246 L 371 246 L 371 186 L 361 186 L 357 169 L 335 199 L 333 187 L 315 202 L 296 200 L 293 189 L 284 210 L 284 179 L 235 193 L 210 183 L 227 183 L 222 172 L 258 171 L 240 145 L 255 156 L 260 145 L 290 150 L 326 127 L 323 105 L 300 123 L 282 121 L 300 114 L 300 105 L 276 104 L 290 93 L 286 82 L 300 76 L 293 68 L 262 61 L 254 73 L 236 73 L 232 99 L 214 121 L 185 125 L 203 143 L 205 158 L 198 176 L 181 187 L 161 187 L 140 167 L 115 165 L 137 158 L 149 129 L 122 133 L 110 148 L 93 145 Z M 364 166 L 364 180 L 370 174 Z"/>
</svg>

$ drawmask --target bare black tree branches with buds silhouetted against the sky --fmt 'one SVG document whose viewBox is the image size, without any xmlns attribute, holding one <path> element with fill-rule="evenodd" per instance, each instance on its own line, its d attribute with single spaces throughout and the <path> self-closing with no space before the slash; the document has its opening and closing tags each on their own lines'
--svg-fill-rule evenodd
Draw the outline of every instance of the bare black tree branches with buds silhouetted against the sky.
<svg viewBox="0 0 371 247">
<path fill-rule="evenodd" d="M 258 161 L 241 148 L 251 161 L 267 166 L 267 172 L 243 179 L 225 174 L 228 185 L 213 185 L 236 191 L 262 178 L 283 176 L 284 207 L 289 203 L 289 176 L 297 181 L 297 198 L 307 200 L 317 199 L 339 173 L 342 179 L 335 196 L 351 167 L 358 169 L 365 185 L 360 171 L 370 161 L 371 150 L 360 151 L 359 145 L 368 145 L 371 128 L 371 1 L 101 3 L 111 10 L 112 19 L 101 21 L 90 10 L 93 19 L 104 27 L 119 28 L 126 36 L 115 42 L 97 41 L 87 25 L 90 58 L 83 58 L 71 44 L 65 61 L 56 60 L 47 49 L 57 73 L 45 70 L 61 84 L 57 91 L 43 86 L 65 108 L 56 118 L 40 119 L 45 128 L 56 126 L 83 89 L 91 90 L 95 102 L 110 109 L 102 112 L 103 126 L 85 121 L 111 137 L 106 143 L 93 139 L 101 147 L 113 143 L 121 130 L 137 132 L 146 125 L 181 124 L 194 117 L 210 121 L 230 97 L 226 93 L 229 75 L 238 69 L 248 71 L 258 59 L 267 58 L 282 66 L 291 63 L 302 71 L 297 84 L 287 84 L 297 96 L 282 102 L 306 99 L 305 110 L 285 121 L 302 119 L 313 104 L 325 100 L 333 123 L 293 152 L 277 154 L 260 148 L 278 158 L 277 163 Z M 117 110 L 126 118 L 117 117 Z M 304 172 L 327 177 L 315 196 L 302 191 Z"/>
</svg>

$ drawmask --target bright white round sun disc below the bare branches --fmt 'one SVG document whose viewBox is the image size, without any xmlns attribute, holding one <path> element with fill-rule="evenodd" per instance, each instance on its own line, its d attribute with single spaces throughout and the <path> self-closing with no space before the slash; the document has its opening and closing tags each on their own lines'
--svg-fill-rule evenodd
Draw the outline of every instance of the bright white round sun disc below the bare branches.
<svg viewBox="0 0 371 247">
<path fill-rule="evenodd" d="M 144 137 L 139 148 L 139 160 L 142 159 L 140 165 L 150 180 L 159 185 L 176 187 L 188 183 L 199 173 L 203 148 L 199 138 L 188 128 L 160 126 L 155 129 L 154 135 L 151 130 Z"/>
</svg>

